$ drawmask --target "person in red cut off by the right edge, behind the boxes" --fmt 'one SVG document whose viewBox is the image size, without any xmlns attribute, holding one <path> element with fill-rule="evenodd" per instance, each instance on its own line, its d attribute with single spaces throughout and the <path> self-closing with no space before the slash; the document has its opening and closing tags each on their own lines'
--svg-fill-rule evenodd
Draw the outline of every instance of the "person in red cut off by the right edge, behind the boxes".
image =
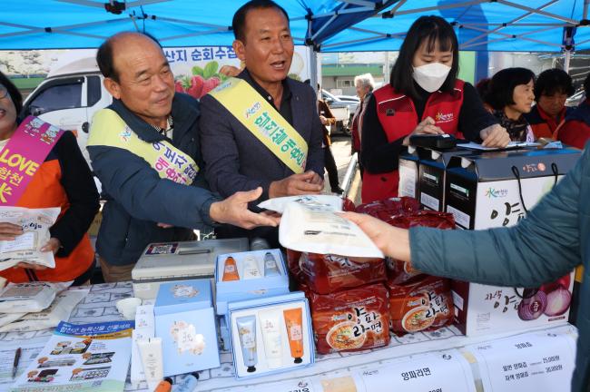
<svg viewBox="0 0 590 392">
<path fill-rule="evenodd" d="M 584 81 L 585 100 L 565 116 L 565 123 L 556 132 L 556 139 L 584 149 L 590 139 L 590 73 Z"/>
</svg>

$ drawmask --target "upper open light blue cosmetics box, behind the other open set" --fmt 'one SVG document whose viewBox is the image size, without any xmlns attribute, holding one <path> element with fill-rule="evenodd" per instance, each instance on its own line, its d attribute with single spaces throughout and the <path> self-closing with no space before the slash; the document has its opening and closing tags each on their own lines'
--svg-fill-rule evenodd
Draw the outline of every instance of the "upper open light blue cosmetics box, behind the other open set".
<svg viewBox="0 0 590 392">
<path fill-rule="evenodd" d="M 269 264 L 267 264 L 269 261 L 267 253 L 271 255 Z M 229 258 L 233 260 L 232 264 L 228 264 Z M 231 275 L 226 273 L 225 281 L 223 280 L 224 271 L 231 272 Z M 287 293 L 289 293 L 289 274 L 280 250 L 252 250 L 227 253 L 217 257 L 215 309 L 218 315 L 227 315 L 228 303 L 233 301 Z"/>
</svg>

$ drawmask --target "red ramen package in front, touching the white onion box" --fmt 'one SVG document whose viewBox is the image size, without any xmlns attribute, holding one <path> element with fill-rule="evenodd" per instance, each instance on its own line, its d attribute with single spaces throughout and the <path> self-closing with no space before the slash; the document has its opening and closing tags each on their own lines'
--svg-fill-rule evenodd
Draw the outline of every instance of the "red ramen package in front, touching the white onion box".
<svg viewBox="0 0 590 392">
<path fill-rule="evenodd" d="M 391 329 L 405 334 L 437 329 L 453 319 L 448 279 L 426 276 L 402 285 L 388 282 Z"/>
</svg>

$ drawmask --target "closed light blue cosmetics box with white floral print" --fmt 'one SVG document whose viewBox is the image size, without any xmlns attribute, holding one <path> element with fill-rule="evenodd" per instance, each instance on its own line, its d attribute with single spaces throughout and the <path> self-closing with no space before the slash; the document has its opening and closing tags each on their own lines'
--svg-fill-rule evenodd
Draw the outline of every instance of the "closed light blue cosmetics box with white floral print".
<svg viewBox="0 0 590 392">
<path fill-rule="evenodd" d="M 153 313 L 155 335 L 162 338 L 164 376 L 219 368 L 210 279 L 162 284 Z"/>
</svg>

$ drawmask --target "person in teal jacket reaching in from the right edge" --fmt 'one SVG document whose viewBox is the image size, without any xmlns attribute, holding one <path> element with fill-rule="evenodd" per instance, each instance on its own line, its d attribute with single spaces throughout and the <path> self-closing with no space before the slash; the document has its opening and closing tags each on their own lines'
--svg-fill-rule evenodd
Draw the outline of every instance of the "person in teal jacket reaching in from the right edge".
<svg viewBox="0 0 590 392">
<path fill-rule="evenodd" d="M 586 145 L 586 147 L 588 147 Z M 353 212 L 354 221 L 386 255 L 430 275 L 495 286 L 539 287 L 584 264 L 577 316 L 573 392 L 590 392 L 590 154 L 511 228 L 398 229 Z"/>
</svg>

